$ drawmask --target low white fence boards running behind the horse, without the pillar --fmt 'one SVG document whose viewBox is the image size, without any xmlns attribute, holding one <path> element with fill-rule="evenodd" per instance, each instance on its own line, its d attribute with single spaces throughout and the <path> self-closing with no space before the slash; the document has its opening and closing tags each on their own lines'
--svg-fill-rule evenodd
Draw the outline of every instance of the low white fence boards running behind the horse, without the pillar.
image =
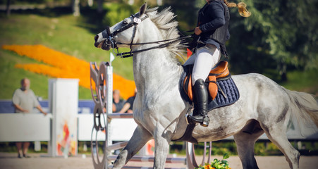
<svg viewBox="0 0 318 169">
<path fill-rule="evenodd" d="M 78 114 L 78 141 L 90 141 L 92 127 L 94 125 L 93 114 Z M 51 114 L 22 114 L 0 113 L 0 142 L 32 142 L 49 141 L 51 134 Z M 297 123 L 295 123 L 297 124 Z M 302 136 L 297 125 L 291 125 L 287 132 L 288 139 L 312 139 L 318 140 L 318 133 Z M 131 118 L 111 120 L 112 141 L 125 141 L 130 139 L 137 124 Z M 105 136 L 98 135 L 102 141 Z M 233 139 L 228 137 L 227 139 Z M 260 139 L 267 139 L 263 134 Z"/>
</svg>

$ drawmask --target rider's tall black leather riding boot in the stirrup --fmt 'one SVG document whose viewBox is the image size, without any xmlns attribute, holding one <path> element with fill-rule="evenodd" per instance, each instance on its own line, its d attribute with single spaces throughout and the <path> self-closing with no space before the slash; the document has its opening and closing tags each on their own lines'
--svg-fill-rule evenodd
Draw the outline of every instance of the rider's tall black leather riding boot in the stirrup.
<svg viewBox="0 0 318 169">
<path fill-rule="evenodd" d="M 193 102 L 195 109 L 190 119 L 193 123 L 200 123 L 200 125 L 207 127 L 209 125 L 209 116 L 207 116 L 207 87 L 204 85 L 204 81 L 199 79 L 195 81 L 193 86 Z"/>
</svg>

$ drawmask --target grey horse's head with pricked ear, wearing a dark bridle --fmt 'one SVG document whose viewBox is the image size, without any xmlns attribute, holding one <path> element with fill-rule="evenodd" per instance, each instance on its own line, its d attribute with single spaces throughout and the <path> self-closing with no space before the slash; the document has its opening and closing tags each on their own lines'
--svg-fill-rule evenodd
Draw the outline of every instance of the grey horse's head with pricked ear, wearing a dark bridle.
<svg viewBox="0 0 318 169">
<path fill-rule="evenodd" d="M 116 23 L 112 27 L 107 26 L 103 32 L 100 32 L 94 37 L 94 46 L 108 51 L 111 48 L 130 47 L 136 34 L 136 25 L 145 20 L 147 16 L 145 11 L 147 4 L 140 7 L 140 11 L 130 17 Z"/>
</svg>

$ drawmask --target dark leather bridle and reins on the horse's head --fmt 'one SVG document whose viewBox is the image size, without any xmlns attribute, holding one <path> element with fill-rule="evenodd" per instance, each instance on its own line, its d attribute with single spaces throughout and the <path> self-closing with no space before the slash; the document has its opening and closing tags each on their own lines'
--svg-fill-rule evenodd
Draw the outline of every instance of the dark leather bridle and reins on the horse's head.
<svg viewBox="0 0 318 169">
<path fill-rule="evenodd" d="M 104 43 L 106 43 L 106 45 L 109 45 L 109 46 L 111 45 L 111 47 L 113 48 L 113 52 L 114 52 L 114 54 L 116 54 L 116 56 L 121 56 L 121 58 L 128 58 L 128 57 L 133 56 L 133 54 L 137 54 L 137 53 L 140 53 L 142 51 L 149 51 L 149 50 L 152 50 L 152 49 L 165 48 L 165 47 L 169 46 L 170 44 L 176 43 L 178 41 L 183 41 L 184 39 L 187 39 L 187 38 L 191 37 L 191 35 L 188 35 L 188 36 L 178 37 L 178 38 L 175 38 L 175 39 L 166 39 L 166 40 L 161 40 L 161 41 L 156 41 L 156 42 L 145 42 L 145 43 L 135 43 L 134 44 L 133 40 L 135 39 L 137 25 L 139 23 L 141 23 L 143 20 L 148 18 L 148 16 L 145 15 L 143 18 L 140 19 L 139 17 L 137 17 L 137 15 L 139 15 L 139 14 L 131 15 L 131 17 L 133 17 L 133 22 L 130 22 L 127 25 L 119 28 L 118 30 L 115 30 L 113 33 L 111 33 L 111 31 L 109 29 L 109 26 L 106 27 L 107 35 L 104 35 L 104 33 L 102 33 L 103 37 L 107 37 L 108 36 L 108 38 L 106 38 Z M 126 43 L 116 42 L 114 37 L 116 35 L 118 35 L 118 33 L 123 32 L 125 30 L 128 30 L 130 27 L 134 27 L 133 35 L 132 35 L 132 38 L 131 38 L 131 42 L 130 42 L 130 44 L 128 44 L 128 45 L 130 45 L 130 52 L 121 52 L 121 53 L 119 53 L 117 44 L 126 44 Z M 166 42 L 166 43 L 160 44 L 161 42 Z M 183 42 L 183 43 L 185 44 L 185 42 Z M 153 46 L 153 47 L 149 47 L 147 49 L 140 49 L 140 50 L 137 50 L 137 51 L 133 51 L 133 49 L 132 49 L 133 45 L 142 45 L 142 44 L 158 44 L 158 45 L 157 46 Z M 115 52 L 114 49 L 117 49 L 117 52 Z"/>
</svg>

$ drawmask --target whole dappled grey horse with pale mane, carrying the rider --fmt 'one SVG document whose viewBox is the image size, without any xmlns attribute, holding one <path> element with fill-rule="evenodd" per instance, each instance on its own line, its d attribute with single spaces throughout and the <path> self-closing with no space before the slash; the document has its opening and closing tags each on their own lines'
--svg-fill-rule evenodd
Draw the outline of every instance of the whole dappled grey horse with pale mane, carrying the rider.
<svg viewBox="0 0 318 169">
<path fill-rule="evenodd" d="M 138 92 L 133 116 L 137 127 L 118 155 L 114 168 L 122 168 L 152 138 L 156 145 L 154 168 L 164 168 L 169 143 L 185 132 L 185 114 L 190 104 L 181 99 L 178 84 L 183 68 L 176 59 L 183 46 L 180 41 L 164 47 L 158 47 L 161 43 L 148 43 L 178 39 L 175 17 L 170 8 L 159 13 L 157 8 L 147 9 L 143 5 L 139 13 L 94 37 L 94 45 L 98 48 L 130 47 L 134 54 L 133 73 Z M 290 167 L 298 168 L 300 153 L 288 142 L 287 125 L 294 117 L 300 124 L 318 126 L 315 99 L 310 94 L 289 91 L 256 73 L 233 75 L 232 78 L 238 86 L 240 99 L 231 106 L 210 111 L 209 127 L 197 125 L 192 137 L 198 142 L 211 142 L 233 135 L 243 168 L 258 168 L 254 144 L 265 132 L 283 152 Z"/>
</svg>

